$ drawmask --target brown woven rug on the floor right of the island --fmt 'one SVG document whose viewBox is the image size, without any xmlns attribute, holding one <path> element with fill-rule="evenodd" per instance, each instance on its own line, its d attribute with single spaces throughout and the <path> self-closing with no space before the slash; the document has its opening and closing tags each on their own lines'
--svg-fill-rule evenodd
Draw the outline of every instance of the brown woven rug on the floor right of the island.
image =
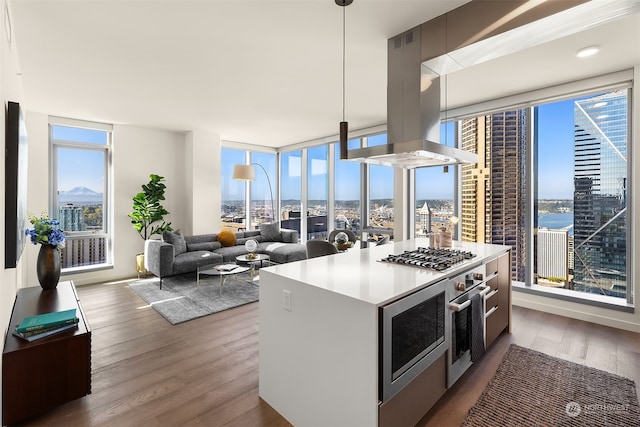
<svg viewBox="0 0 640 427">
<path fill-rule="evenodd" d="M 463 426 L 640 425 L 635 383 L 512 344 Z"/>
</svg>

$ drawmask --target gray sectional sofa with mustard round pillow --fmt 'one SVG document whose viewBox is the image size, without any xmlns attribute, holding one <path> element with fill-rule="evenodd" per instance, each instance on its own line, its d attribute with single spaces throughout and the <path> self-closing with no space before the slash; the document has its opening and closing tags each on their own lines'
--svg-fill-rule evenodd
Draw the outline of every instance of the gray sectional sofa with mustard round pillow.
<svg viewBox="0 0 640 427">
<path fill-rule="evenodd" d="M 277 226 L 277 224 L 275 224 Z M 298 243 L 296 230 L 273 228 L 265 225 L 262 230 L 233 233 L 236 242 L 223 246 L 218 233 L 182 236 L 165 232 L 163 240 L 151 240 L 145 245 L 147 270 L 162 279 L 167 276 L 195 272 L 198 267 L 216 263 L 235 263 L 236 256 L 244 255 L 244 244 L 249 239 L 258 242 L 257 253 L 269 255 L 272 262 L 283 264 L 307 258 L 304 245 Z"/>
</svg>

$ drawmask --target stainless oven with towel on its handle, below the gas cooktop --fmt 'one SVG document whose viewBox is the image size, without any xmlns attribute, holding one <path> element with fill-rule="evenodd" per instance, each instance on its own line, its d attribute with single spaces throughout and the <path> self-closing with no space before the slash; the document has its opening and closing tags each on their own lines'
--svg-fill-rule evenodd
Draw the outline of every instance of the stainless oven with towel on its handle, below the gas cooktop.
<svg viewBox="0 0 640 427">
<path fill-rule="evenodd" d="M 451 387 L 485 350 L 484 296 L 491 290 L 485 285 L 485 270 L 484 265 L 478 266 L 451 280 L 451 301 L 447 305 L 451 328 L 447 387 Z"/>
</svg>

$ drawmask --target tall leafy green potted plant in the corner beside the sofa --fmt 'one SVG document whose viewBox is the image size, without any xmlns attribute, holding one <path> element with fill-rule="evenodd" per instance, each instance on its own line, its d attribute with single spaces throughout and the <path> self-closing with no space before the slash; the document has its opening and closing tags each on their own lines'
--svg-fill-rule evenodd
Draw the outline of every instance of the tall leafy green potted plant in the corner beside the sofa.
<svg viewBox="0 0 640 427">
<path fill-rule="evenodd" d="M 133 197 L 133 212 L 129 213 L 131 224 L 142 240 L 146 241 L 163 231 L 173 231 L 170 222 L 164 220 L 169 212 L 160 203 L 164 200 L 166 186 L 164 177 L 151 174 L 149 182 L 142 185 L 142 191 Z M 136 255 L 136 271 L 146 273 L 144 253 Z"/>
</svg>

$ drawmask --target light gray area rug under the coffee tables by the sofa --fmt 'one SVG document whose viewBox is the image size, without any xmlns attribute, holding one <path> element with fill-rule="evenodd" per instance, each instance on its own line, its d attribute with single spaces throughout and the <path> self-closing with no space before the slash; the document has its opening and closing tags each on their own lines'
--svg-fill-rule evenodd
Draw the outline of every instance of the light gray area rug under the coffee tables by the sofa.
<svg viewBox="0 0 640 427">
<path fill-rule="evenodd" d="M 249 273 L 227 276 L 220 293 L 220 278 L 196 274 L 140 279 L 128 283 L 131 289 L 172 325 L 258 301 L 258 282 Z"/>
</svg>

